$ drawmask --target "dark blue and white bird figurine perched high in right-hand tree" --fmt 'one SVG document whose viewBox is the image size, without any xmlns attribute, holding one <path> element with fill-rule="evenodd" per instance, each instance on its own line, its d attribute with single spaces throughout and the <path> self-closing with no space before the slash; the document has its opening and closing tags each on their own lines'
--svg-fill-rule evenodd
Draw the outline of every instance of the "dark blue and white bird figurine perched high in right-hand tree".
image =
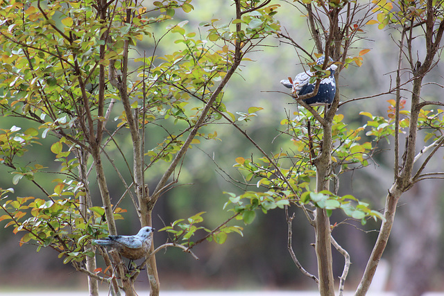
<svg viewBox="0 0 444 296">
<path fill-rule="evenodd" d="M 322 65 L 324 64 L 324 60 L 325 55 L 322 55 L 318 58 L 318 60 L 316 60 L 316 64 Z M 330 61 L 333 62 L 331 58 Z M 311 106 L 319 106 L 331 104 L 333 102 L 334 96 L 336 95 L 336 81 L 334 80 L 334 70 L 336 70 L 337 68 L 338 67 L 336 66 L 336 64 L 333 63 L 327 67 L 327 70 L 330 71 L 330 76 L 321 80 L 316 96 L 312 96 L 311 98 L 303 100 L 305 101 L 305 103 Z M 291 92 L 295 94 L 297 98 L 298 96 L 313 92 L 316 82 L 309 83 L 309 80 L 312 76 L 314 76 L 313 72 L 306 71 L 296 75 L 293 83 L 291 83 L 290 80 L 280 80 L 280 82 L 282 83 L 282 85 L 284 85 L 284 87 L 291 88 Z"/>
</svg>

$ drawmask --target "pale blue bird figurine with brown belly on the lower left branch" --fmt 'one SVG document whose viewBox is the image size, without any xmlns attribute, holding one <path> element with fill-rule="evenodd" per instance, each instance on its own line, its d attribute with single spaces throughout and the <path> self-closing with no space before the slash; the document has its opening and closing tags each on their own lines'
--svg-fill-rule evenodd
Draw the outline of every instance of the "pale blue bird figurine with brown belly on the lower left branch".
<svg viewBox="0 0 444 296">
<path fill-rule="evenodd" d="M 148 254 L 153 241 L 153 227 L 145 226 L 135 236 L 108 236 L 96 239 L 94 243 L 105 247 L 114 247 L 121 256 L 137 260 Z"/>
</svg>

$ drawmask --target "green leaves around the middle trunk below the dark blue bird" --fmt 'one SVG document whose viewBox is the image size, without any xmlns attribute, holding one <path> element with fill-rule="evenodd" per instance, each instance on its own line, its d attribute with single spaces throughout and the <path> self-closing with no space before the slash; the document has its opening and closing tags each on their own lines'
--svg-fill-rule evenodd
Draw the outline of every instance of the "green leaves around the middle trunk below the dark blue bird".
<svg viewBox="0 0 444 296">
<path fill-rule="evenodd" d="M 255 160 L 237 157 L 237 167 L 244 177 L 246 184 L 255 184 L 257 188 L 266 189 L 264 192 L 246 191 L 241 195 L 228 193 L 230 196 L 225 203 L 224 209 L 229 207 L 229 211 L 238 214 L 238 219 L 244 223 L 252 223 L 256 214 L 256 209 L 262 209 L 264 213 L 276 208 L 284 208 L 291 204 L 300 206 L 319 207 L 327 209 L 327 214 L 331 215 L 332 210 L 342 209 L 343 212 L 352 218 L 366 223 L 368 218 L 384 219 L 378 211 L 370 209 L 369 204 L 362 202 L 352 195 L 339 196 L 330 191 L 315 193 L 311 187 L 311 182 L 316 177 L 316 168 L 313 165 L 314 159 L 318 155 L 323 140 L 323 130 L 316 124 L 314 116 L 300 108 L 295 112 L 294 119 L 284 119 L 281 124 L 287 126 L 282 132 L 291 136 L 291 143 L 296 147 L 297 153 L 278 153 L 271 157 L 260 157 Z M 370 114 L 364 114 L 369 116 Z M 334 175 L 334 168 L 339 167 L 339 171 L 347 171 L 354 168 L 368 166 L 370 155 L 377 148 L 372 142 L 361 141 L 361 134 L 366 130 L 367 136 L 373 136 L 373 141 L 377 143 L 381 137 L 393 135 L 389 126 L 389 119 L 384 117 L 371 116 L 372 121 L 357 129 L 350 128 L 343 123 L 344 116 L 336 114 L 332 123 L 332 170 L 330 178 Z M 387 124 L 385 124 L 387 123 Z M 382 126 L 381 126 L 382 125 Z M 392 132 L 390 132 L 392 131 Z M 387 134 L 388 133 L 388 134 Z"/>
</svg>

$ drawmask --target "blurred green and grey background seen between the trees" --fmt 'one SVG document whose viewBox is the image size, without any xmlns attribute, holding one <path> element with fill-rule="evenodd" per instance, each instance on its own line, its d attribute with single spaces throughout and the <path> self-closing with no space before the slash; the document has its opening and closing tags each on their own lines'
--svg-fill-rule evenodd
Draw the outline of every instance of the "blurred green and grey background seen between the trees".
<svg viewBox="0 0 444 296">
<path fill-rule="evenodd" d="M 199 27 L 201 21 L 210 21 L 218 18 L 221 21 L 232 19 L 232 1 L 193 1 L 194 11 L 185 14 L 176 12 L 171 23 L 189 20 L 187 28 L 206 35 L 205 28 Z M 288 31 L 294 40 L 311 50 L 314 46 L 309 38 L 306 28 L 306 19 L 286 1 L 276 1 L 281 8 L 276 17 L 280 19 L 283 28 Z M 167 24 L 162 23 L 155 28 L 156 35 L 162 35 Z M 380 31 L 376 26 L 365 26 L 362 40 L 355 43 L 354 53 L 361 49 L 371 49 L 364 55 L 362 67 L 349 67 L 341 72 L 338 84 L 341 89 L 341 101 L 361 96 L 370 96 L 386 92 L 393 84 L 393 72 L 396 69 L 398 47 L 394 31 Z M 392 40 L 393 38 L 393 40 Z M 160 44 L 157 55 L 168 53 L 175 46 L 173 38 L 167 35 Z M 281 79 L 294 77 L 302 71 L 296 50 L 289 44 L 280 42 L 277 38 L 268 38 L 248 58 L 253 62 L 244 62 L 241 71 L 228 83 L 225 89 L 225 105 L 230 112 L 246 112 L 248 107 L 262 107 L 257 117 L 242 128 L 247 130 L 251 137 L 267 152 L 278 152 L 280 148 L 289 146 L 287 137 L 278 137 L 279 130 L 284 128 L 280 121 L 292 115 L 298 105 L 289 104 L 291 98 L 281 92 L 287 89 L 280 85 Z M 141 42 L 139 53 L 153 51 L 153 44 Z M 421 56 L 420 44 L 418 55 Z M 305 57 L 306 58 L 306 57 Z M 429 74 L 427 80 L 442 84 L 444 67 L 439 62 L 438 67 Z M 393 81 L 392 81 L 393 80 Z M 425 99 L 433 98 L 442 101 L 442 88 L 429 85 L 424 88 L 422 96 Z M 386 116 L 388 103 L 386 100 L 393 96 L 378 96 L 364 101 L 343 105 L 339 113 L 344 114 L 345 122 L 351 126 L 362 125 L 366 122 L 365 116 L 359 112 L 368 111 L 374 115 Z M 408 104 L 408 103 L 407 103 Z M 114 114 L 118 116 L 118 114 Z M 10 128 L 19 125 L 26 128 L 28 123 L 16 118 L 0 118 L 1 128 Z M 108 126 L 108 128 L 110 128 Z M 259 155 L 257 150 L 244 139 L 230 125 L 210 125 L 208 128 L 216 131 L 219 140 L 201 141 L 194 145 L 185 157 L 182 166 L 180 186 L 168 191 L 160 198 L 155 207 L 153 223 L 156 229 L 169 225 L 173 220 L 186 218 L 200 211 L 206 211 L 205 223 L 207 227 L 215 227 L 223 222 L 228 214 L 222 211 L 227 195 L 223 191 L 241 193 L 241 189 L 228 182 L 225 172 L 239 176 L 236 168 L 232 168 L 236 157 L 250 157 Z M 153 135 L 154 134 L 154 135 Z M 50 136 L 51 137 L 51 136 Z M 155 132 L 151 133 L 151 140 L 155 143 Z M 50 160 L 52 155 L 46 147 L 51 139 L 42 139 L 41 153 L 28 155 L 28 162 L 38 161 L 50 165 L 51 171 L 57 171 L 59 163 Z M 382 143 L 382 153 L 376 155 L 374 162 L 367 168 L 354 173 L 341 175 L 340 194 L 352 194 L 361 200 L 370 202 L 373 209 L 382 209 L 387 189 L 393 182 L 393 159 L 390 143 Z M 45 146 L 46 145 L 46 146 Z M 421 145 L 418 145 L 419 147 Z M 132 148 L 132 141 L 128 134 L 128 142 L 123 145 L 128 150 Z M 443 155 L 438 157 L 441 163 L 436 168 L 443 167 Z M 123 167 L 123 164 L 117 164 Z M 167 164 L 164 164 L 166 167 Z M 223 170 L 221 171 L 218 166 Z M 158 171 L 162 171 L 162 164 Z M 12 175 L 7 168 L 0 167 L 0 186 L 11 186 Z M 117 201 L 124 189 L 119 181 L 112 182 L 117 175 L 107 176 L 110 181 L 112 198 Z M 157 184 L 160 175 L 146 175 L 148 186 Z M 46 182 L 51 182 L 47 178 Z M 42 182 L 45 180 L 42 177 Z M 97 188 L 95 180 L 90 186 Z M 17 196 L 28 195 L 32 190 L 26 180 L 19 182 L 15 187 Z M 32 192 L 32 191 L 31 191 Z M 407 282 L 424 280 L 427 277 L 427 290 L 443 290 L 442 278 L 444 276 L 444 260 L 441 252 L 443 236 L 441 233 L 443 219 L 443 182 L 425 181 L 416 185 L 404 195 L 399 208 L 398 219 L 395 220 L 393 237 L 384 254 L 384 259 L 390 266 L 391 274 L 388 277 L 387 288 L 396 288 Z M 99 201 L 99 193 L 96 191 Z M 132 212 L 132 206 L 125 204 L 128 212 L 123 214 L 125 220 L 118 220 L 117 227 L 120 234 L 135 234 L 139 229 L 137 216 Z M 1 214 L 1 213 L 0 213 Z M 341 213 L 334 213 L 332 223 L 339 223 L 346 217 Z M 6 223 L 3 221 L 0 226 Z M 334 229 L 334 236 L 348 252 L 350 252 L 352 265 L 348 276 L 350 288 L 355 286 L 361 277 L 372 243 L 375 240 L 379 224 L 369 221 L 365 226 L 355 221 L 348 221 L 345 225 Z M 0 286 L 49 289 L 49 288 L 86 288 L 85 276 L 75 273 L 69 265 L 63 265 L 52 250 L 35 252 L 33 245 L 19 247 L 18 241 L 21 233 L 14 235 L 11 229 L 0 231 Z M 160 245 L 167 241 L 164 232 L 155 233 L 155 244 Z M 296 256 L 309 272 L 316 273 L 316 256 L 314 248 L 313 229 L 300 213 L 296 213 L 293 221 L 293 247 Z M 302 275 L 291 261 L 287 251 L 287 223 L 284 211 L 275 209 L 267 215 L 258 213 L 252 225 L 244 227 L 244 237 L 231 234 L 223 245 L 203 243 L 194 249 L 200 260 L 196 261 L 189 254 L 174 248 L 157 255 L 157 266 L 160 272 L 161 288 L 163 289 L 311 289 L 315 283 Z M 420 260 L 421 259 L 421 260 Z M 418 265 L 418 261 L 423 265 Z M 101 263 L 99 263 L 100 265 Z M 410 264 L 410 265 L 409 265 Z M 103 265 L 103 264 L 102 264 Z M 343 258 L 334 253 L 335 277 L 339 277 L 343 268 Z M 412 268 L 411 266 L 416 266 Z M 413 275 L 406 275 L 406 272 Z M 411 278 L 414 278 L 411 279 Z M 139 277 L 141 288 L 147 287 L 146 274 L 142 272 Z M 346 285 L 347 288 L 347 285 Z"/>
</svg>

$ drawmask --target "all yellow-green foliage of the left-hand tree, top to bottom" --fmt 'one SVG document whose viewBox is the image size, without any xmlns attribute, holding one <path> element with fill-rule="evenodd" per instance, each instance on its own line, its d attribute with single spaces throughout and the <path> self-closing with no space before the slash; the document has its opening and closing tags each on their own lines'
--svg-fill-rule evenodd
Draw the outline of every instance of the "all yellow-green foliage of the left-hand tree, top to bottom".
<svg viewBox="0 0 444 296">
<path fill-rule="evenodd" d="M 151 10 L 126 2 L 110 9 L 108 18 L 99 15 L 102 8 L 94 1 L 87 0 L 63 5 L 60 1 L 43 4 L 37 0 L 1 3 L 1 112 L 35 121 L 37 128 L 25 132 L 19 132 L 20 128 L 15 126 L 2 130 L 0 162 L 14 168 L 14 184 L 22 177 L 33 180 L 44 166 L 16 167 L 14 157 L 21 157 L 38 143 L 37 129 L 43 131 L 42 138 L 53 132 L 58 140 L 51 145 L 51 152 L 56 162 L 62 164 L 60 173 L 68 179 L 53 180 L 56 186 L 54 193 L 48 194 L 48 200 L 31 196 L 3 198 L 7 214 L 1 220 L 10 219 L 8 226 L 15 227 L 15 233 L 27 232 L 22 243 L 35 241 L 39 248 L 53 247 L 60 256 L 66 256 L 65 263 L 92 256 L 83 247 L 90 238 L 105 234 L 104 213 L 101 207 L 91 207 L 87 213 L 80 211 L 79 200 L 86 189 L 76 171 L 80 165 L 78 153 L 73 152 L 88 151 L 90 132 L 106 120 L 103 109 L 120 100 L 121 87 L 126 87 L 133 98 L 130 107 L 138 114 L 139 126 L 151 125 L 153 129 L 161 126 L 167 134 L 160 141 L 146 141 L 147 147 L 154 143 L 144 153 L 150 159 L 146 169 L 159 160 L 170 162 L 183 146 L 187 132 L 196 125 L 202 106 L 214 96 L 218 83 L 234 64 L 234 48 L 240 49 L 240 58 L 248 60 L 244 56 L 248 51 L 280 29 L 278 21 L 273 19 L 279 5 L 265 2 L 266 5 L 257 7 L 259 1 L 245 1 L 241 6 L 244 10 L 230 24 L 219 24 L 219 19 L 201 24 L 208 28 L 207 38 L 188 32 L 187 21 L 182 21 L 167 28 L 168 33 L 179 36 L 175 43 L 182 48 L 159 57 L 157 45 L 162 38 L 153 38 L 153 55 L 135 58 L 136 71 L 126 77 L 126 85 L 119 85 L 125 70 L 122 61 L 126 44 L 135 47 L 144 37 L 153 37 L 152 24 L 171 19 L 178 8 L 191 11 L 190 2 L 154 1 Z M 209 46 L 208 41 L 216 44 Z M 108 71 L 109 80 L 99 90 L 98 77 L 103 69 Z M 205 124 L 222 116 L 235 121 L 222 97 L 220 92 Z M 247 113 L 239 112 L 238 120 L 248 121 L 261 109 L 252 107 Z M 127 114 L 122 112 L 115 118 L 117 129 L 128 125 Z M 83 116 L 92 119 L 88 128 Z M 177 127 L 171 132 L 169 123 L 179 125 L 180 132 L 176 132 Z M 217 139 L 217 134 L 199 131 L 198 137 Z M 107 143 L 111 141 L 115 139 L 110 137 Z M 191 144 L 199 142 L 194 139 Z M 242 215 L 244 222 L 250 223 L 251 212 L 246 213 Z M 191 238 L 198 230 L 206 232 L 205 238 L 216 243 L 223 243 L 230 232 L 242 234 L 237 226 L 224 224 L 215 230 L 200 227 L 202 214 L 188 218 L 187 223 L 177 220 L 164 230 L 174 235 L 173 241 L 183 241 L 189 246 L 193 245 Z M 121 218 L 117 212 L 114 215 Z"/>
</svg>

